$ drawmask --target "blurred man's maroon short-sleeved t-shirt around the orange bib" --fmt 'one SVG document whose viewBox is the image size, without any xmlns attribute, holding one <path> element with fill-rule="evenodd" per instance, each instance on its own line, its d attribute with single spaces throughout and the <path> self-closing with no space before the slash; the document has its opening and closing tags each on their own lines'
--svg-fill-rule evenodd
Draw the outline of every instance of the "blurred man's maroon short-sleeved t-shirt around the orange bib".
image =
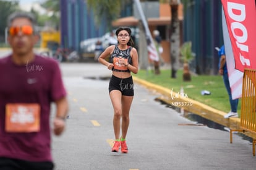
<svg viewBox="0 0 256 170">
<path fill-rule="evenodd" d="M 25 66 L 0 59 L 0 157 L 52 161 L 50 103 L 66 96 L 58 62 L 35 56 Z M 39 132 L 6 132 L 7 103 L 40 104 Z"/>
</svg>

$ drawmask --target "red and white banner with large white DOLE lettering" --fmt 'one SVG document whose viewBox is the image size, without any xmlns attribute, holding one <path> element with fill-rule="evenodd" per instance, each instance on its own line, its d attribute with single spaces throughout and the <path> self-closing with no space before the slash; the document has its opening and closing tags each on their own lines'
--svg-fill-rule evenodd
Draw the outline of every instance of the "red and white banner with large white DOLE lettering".
<svg viewBox="0 0 256 170">
<path fill-rule="evenodd" d="M 256 69 L 255 0 L 221 0 L 223 36 L 232 97 L 242 96 L 244 68 Z"/>
</svg>

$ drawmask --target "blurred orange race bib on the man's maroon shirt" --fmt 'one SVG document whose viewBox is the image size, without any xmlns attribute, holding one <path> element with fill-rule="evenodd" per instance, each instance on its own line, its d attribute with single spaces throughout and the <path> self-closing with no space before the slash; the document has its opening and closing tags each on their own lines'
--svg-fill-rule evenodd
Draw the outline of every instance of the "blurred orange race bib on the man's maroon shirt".
<svg viewBox="0 0 256 170">
<path fill-rule="evenodd" d="M 6 132 L 39 132 L 40 105 L 37 103 L 6 104 Z"/>
</svg>

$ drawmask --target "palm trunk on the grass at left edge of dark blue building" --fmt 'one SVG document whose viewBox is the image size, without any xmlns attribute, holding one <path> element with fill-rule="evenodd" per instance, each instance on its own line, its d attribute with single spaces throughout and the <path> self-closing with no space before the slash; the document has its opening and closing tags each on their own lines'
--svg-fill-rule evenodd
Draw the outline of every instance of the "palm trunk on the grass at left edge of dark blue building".
<svg viewBox="0 0 256 170">
<path fill-rule="evenodd" d="M 179 19 L 178 19 L 178 7 L 180 0 L 169 0 L 171 7 L 171 78 L 176 79 L 177 70 L 179 69 Z"/>
</svg>

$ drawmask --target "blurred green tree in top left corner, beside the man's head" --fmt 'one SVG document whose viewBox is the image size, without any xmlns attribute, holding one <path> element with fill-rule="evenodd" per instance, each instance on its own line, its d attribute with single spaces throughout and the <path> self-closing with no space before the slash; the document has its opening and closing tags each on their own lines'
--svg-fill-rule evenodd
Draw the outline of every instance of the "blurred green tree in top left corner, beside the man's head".
<svg viewBox="0 0 256 170">
<path fill-rule="evenodd" d="M 14 11 L 19 11 L 19 2 L 0 1 L 0 41 L 4 41 L 4 31 L 7 26 L 7 17 Z"/>
</svg>

